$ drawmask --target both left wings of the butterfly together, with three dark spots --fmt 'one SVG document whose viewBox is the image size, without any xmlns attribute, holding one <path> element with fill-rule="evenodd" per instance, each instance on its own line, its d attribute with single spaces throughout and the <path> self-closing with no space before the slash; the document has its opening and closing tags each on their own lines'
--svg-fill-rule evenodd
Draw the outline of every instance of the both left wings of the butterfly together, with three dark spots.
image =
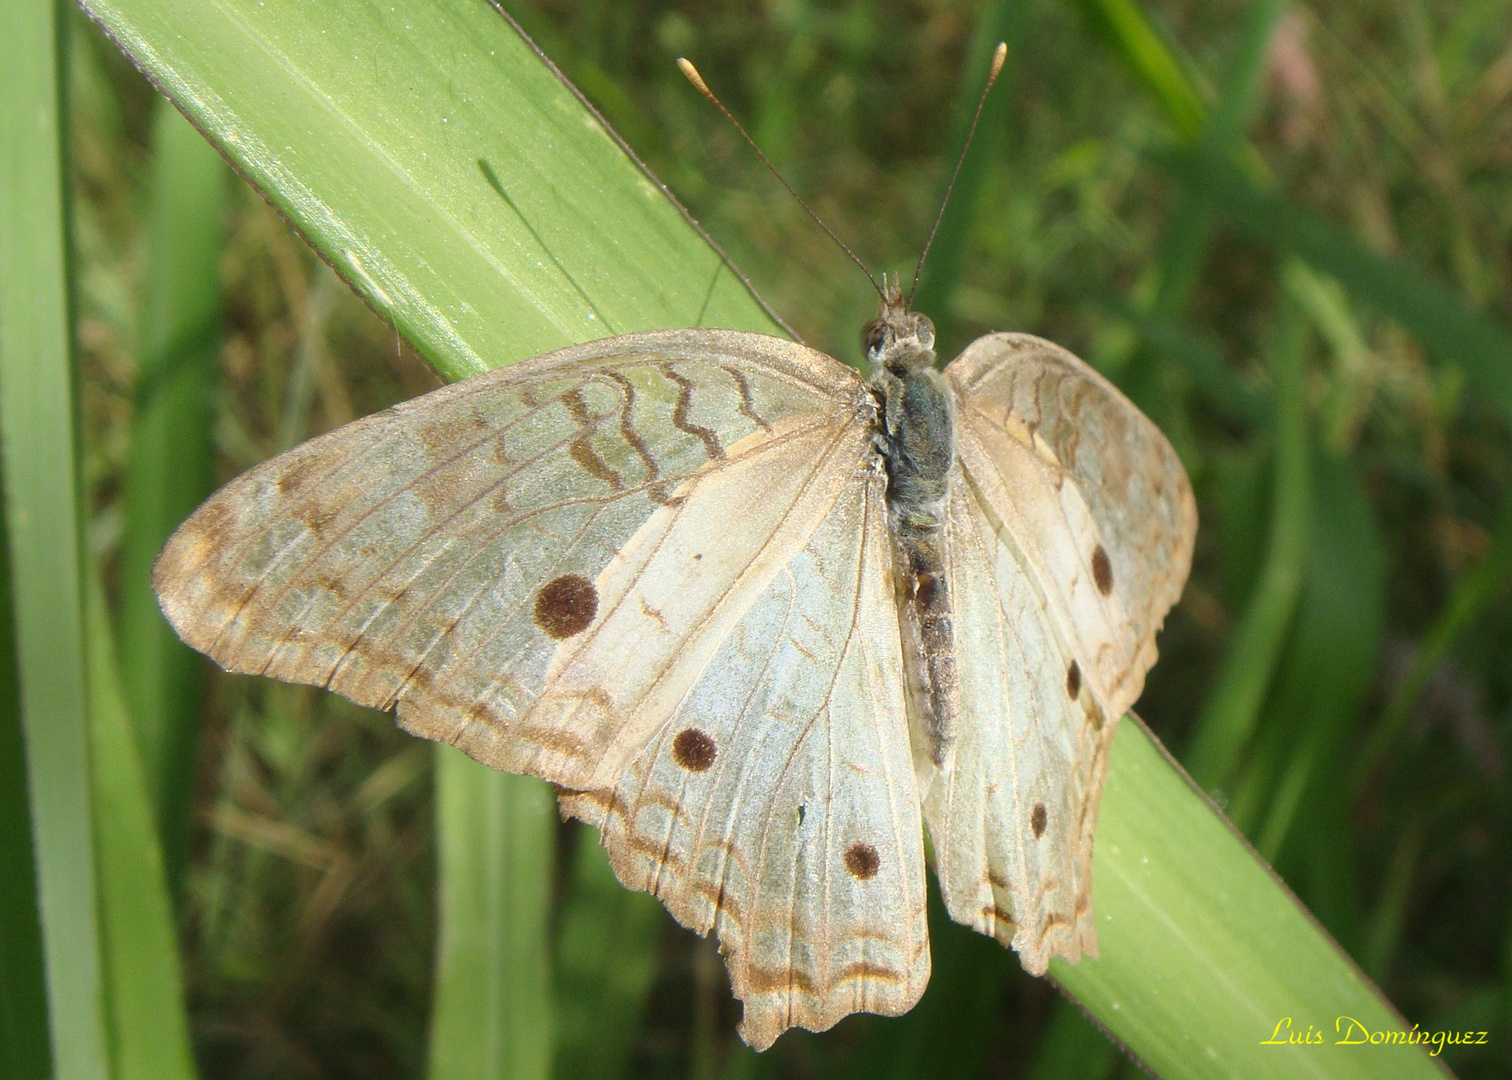
<svg viewBox="0 0 1512 1080">
<path fill-rule="evenodd" d="M 576 790 L 620 879 L 720 933 L 764 1047 L 928 977 L 872 417 L 777 339 L 594 342 L 248 472 L 154 584 L 231 670 Z"/>
</svg>

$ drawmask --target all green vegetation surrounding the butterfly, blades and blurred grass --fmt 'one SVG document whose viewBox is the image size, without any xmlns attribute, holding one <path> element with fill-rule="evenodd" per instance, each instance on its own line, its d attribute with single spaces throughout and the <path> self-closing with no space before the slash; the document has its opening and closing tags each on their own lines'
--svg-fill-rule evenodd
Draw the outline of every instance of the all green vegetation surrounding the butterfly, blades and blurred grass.
<svg viewBox="0 0 1512 1080">
<path fill-rule="evenodd" d="M 1140 711 L 1358 965 L 1125 723 L 1104 959 L 1052 973 L 1163 1075 L 1430 1074 L 1259 1045 L 1284 1015 L 1391 1029 L 1361 971 L 1406 1026 L 1489 1033 L 1444 1050 L 1461 1075 L 1512 1069 L 1512 0 L 505 6 L 851 362 L 869 286 L 671 59 L 909 272 L 1010 42 L 921 307 L 947 354 L 1063 342 L 1170 434 L 1202 534 Z M 758 1057 L 714 948 L 544 787 L 183 652 L 144 581 L 166 532 L 216 476 L 434 386 L 420 357 L 776 324 L 482 0 L 212 0 L 192 27 L 86 0 L 268 203 L 98 27 L 11 8 L 0 843 L 30 873 L 0 882 L 0 1069 L 1132 1074 L 937 911 L 909 1016 Z"/>
</svg>

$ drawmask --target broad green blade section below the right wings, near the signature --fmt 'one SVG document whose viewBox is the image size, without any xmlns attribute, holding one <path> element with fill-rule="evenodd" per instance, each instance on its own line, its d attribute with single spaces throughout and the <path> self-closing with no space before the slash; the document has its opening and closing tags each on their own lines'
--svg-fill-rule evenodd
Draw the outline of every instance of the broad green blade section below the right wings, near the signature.
<svg viewBox="0 0 1512 1080">
<path fill-rule="evenodd" d="M 1341 1016 L 1393 1039 L 1405 1033 L 1370 982 L 1131 718 L 1114 738 L 1092 862 L 1102 957 L 1057 959 L 1051 974 L 1155 1075 L 1444 1075 L 1427 1054 L 1383 1036 L 1340 1045 L 1349 1030 Z M 1287 1018 L 1297 1039 L 1311 1026 L 1320 1042 L 1285 1044 Z M 1281 1042 L 1267 1045 L 1273 1038 Z"/>
</svg>

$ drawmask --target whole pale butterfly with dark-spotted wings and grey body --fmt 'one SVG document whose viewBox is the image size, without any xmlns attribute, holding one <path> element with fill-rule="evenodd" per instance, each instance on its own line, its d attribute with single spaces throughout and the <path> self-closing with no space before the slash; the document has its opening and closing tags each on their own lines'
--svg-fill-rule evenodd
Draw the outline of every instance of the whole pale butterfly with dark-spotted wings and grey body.
<svg viewBox="0 0 1512 1080">
<path fill-rule="evenodd" d="M 393 709 L 558 787 L 718 935 L 742 1038 L 906 1012 L 951 918 L 1096 954 L 1113 728 L 1196 510 L 1161 433 L 1037 337 L 943 372 L 894 284 L 869 381 L 662 330 L 434 390 L 233 479 L 153 572 L 231 672 Z"/>
</svg>

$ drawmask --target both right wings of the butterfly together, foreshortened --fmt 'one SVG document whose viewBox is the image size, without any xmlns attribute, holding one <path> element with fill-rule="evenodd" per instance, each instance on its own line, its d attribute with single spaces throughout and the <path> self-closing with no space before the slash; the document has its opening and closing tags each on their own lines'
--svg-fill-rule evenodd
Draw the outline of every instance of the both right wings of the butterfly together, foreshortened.
<svg viewBox="0 0 1512 1080">
<path fill-rule="evenodd" d="M 947 378 L 960 723 L 954 759 L 921 777 L 925 818 L 951 917 L 1042 974 L 1096 953 L 1108 746 L 1185 582 L 1196 508 L 1164 436 L 1064 349 L 992 334 Z"/>
</svg>

